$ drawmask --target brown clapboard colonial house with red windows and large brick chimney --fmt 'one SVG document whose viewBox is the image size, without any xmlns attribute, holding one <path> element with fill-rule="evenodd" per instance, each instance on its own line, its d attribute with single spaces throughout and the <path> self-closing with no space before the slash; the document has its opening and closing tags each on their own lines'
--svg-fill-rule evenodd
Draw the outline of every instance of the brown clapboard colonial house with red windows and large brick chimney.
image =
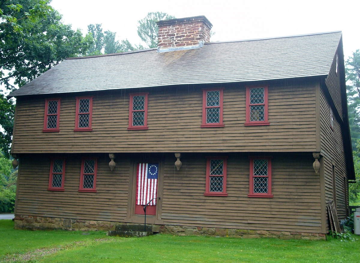
<svg viewBox="0 0 360 263">
<path fill-rule="evenodd" d="M 59 63 L 16 97 L 16 228 L 322 239 L 355 179 L 342 33 L 209 42 L 158 22 L 157 49 Z M 156 199 L 153 199 L 156 198 Z"/>
</svg>

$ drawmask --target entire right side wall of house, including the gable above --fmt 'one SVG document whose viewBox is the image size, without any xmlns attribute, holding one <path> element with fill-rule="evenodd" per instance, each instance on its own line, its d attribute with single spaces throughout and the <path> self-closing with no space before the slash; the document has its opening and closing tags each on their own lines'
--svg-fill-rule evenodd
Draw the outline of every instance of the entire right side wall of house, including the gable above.
<svg viewBox="0 0 360 263">
<path fill-rule="evenodd" d="M 326 86 L 320 91 L 320 147 L 324 158 L 325 200 L 328 202 L 336 199 L 338 218 L 341 220 L 347 213 L 348 182 L 342 110 L 340 110 L 343 107 L 339 97 L 339 73 L 336 73 L 335 60 L 325 83 Z M 333 112 L 333 128 L 330 125 L 330 109 Z M 333 181 L 333 167 L 335 181 Z M 336 189 L 336 195 L 333 189 Z"/>
</svg>

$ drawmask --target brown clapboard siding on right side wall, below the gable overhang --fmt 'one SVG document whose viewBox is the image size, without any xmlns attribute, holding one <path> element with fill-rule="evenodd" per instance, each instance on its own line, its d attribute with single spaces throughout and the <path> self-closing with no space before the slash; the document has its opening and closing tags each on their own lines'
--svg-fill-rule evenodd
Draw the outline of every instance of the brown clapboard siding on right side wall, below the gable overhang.
<svg viewBox="0 0 360 263">
<path fill-rule="evenodd" d="M 339 219 L 346 217 L 347 186 L 344 177 L 347 177 L 345 152 L 342 137 L 342 128 L 334 117 L 334 128 L 330 128 L 330 105 L 321 90 L 320 98 L 320 147 L 324 158 L 325 199 L 333 198 L 332 166 L 336 175 L 336 206 Z"/>
</svg>

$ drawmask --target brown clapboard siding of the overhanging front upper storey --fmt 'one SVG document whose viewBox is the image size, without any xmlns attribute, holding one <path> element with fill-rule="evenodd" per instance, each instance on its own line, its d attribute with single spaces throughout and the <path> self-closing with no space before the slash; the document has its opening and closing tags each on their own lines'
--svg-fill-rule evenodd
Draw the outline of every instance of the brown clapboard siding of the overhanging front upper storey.
<svg viewBox="0 0 360 263">
<path fill-rule="evenodd" d="M 60 132 L 55 133 L 42 132 L 44 97 L 20 97 L 13 153 L 315 151 L 315 81 L 265 84 L 269 126 L 244 126 L 242 83 L 219 85 L 224 87 L 225 127 L 217 128 L 200 127 L 203 86 L 148 89 L 148 130 L 127 130 L 128 90 L 91 94 L 91 132 L 73 131 L 76 94 L 56 95 L 61 97 L 61 109 Z"/>
</svg>

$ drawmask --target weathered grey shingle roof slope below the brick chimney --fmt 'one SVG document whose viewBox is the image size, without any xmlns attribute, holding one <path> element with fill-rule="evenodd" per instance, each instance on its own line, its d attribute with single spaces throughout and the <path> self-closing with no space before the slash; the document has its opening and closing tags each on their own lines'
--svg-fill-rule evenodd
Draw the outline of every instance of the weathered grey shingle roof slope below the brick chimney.
<svg viewBox="0 0 360 263">
<path fill-rule="evenodd" d="M 327 75 L 341 32 L 69 58 L 8 97 Z"/>
</svg>

